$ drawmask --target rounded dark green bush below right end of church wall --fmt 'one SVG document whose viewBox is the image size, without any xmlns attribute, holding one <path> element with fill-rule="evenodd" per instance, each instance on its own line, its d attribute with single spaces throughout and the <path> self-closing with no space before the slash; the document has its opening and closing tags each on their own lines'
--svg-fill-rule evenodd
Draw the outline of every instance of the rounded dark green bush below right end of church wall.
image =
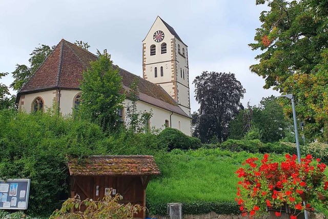
<svg viewBox="0 0 328 219">
<path fill-rule="evenodd" d="M 181 131 L 173 128 L 166 128 L 158 134 L 159 144 L 161 148 L 167 148 L 168 151 L 173 149 L 198 149 L 201 142 L 196 137 L 190 137 Z"/>
</svg>

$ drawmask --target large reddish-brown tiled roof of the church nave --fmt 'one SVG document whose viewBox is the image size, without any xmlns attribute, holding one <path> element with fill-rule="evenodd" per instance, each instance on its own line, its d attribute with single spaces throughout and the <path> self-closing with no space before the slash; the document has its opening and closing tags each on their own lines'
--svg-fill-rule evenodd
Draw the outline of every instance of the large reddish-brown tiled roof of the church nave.
<svg viewBox="0 0 328 219">
<path fill-rule="evenodd" d="M 24 93 L 57 88 L 79 89 L 79 82 L 83 79 L 83 70 L 90 66 L 90 62 L 96 60 L 96 55 L 61 39 L 31 79 L 18 91 L 17 100 Z M 190 117 L 162 87 L 121 68 L 119 68 L 119 74 L 122 76 L 125 90 L 129 90 L 129 86 L 134 81 L 138 82 L 140 101 Z"/>
</svg>

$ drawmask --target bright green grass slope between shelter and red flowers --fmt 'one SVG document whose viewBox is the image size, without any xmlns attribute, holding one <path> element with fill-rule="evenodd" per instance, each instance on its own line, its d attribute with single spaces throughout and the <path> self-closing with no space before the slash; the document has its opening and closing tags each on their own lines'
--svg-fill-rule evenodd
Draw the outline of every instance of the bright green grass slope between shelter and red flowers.
<svg viewBox="0 0 328 219">
<path fill-rule="evenodd" d="M 161 174 L 147 187 L 147 203 L 152 211 L 170 202 L 234 202 L 238 178 L 234 173 L 248 157 L 263 154 L 220 149 L 173 150 L 158 154 L 155 161 Z M 274 160 L 283 157 L 272 155 Z"/>
</svg>

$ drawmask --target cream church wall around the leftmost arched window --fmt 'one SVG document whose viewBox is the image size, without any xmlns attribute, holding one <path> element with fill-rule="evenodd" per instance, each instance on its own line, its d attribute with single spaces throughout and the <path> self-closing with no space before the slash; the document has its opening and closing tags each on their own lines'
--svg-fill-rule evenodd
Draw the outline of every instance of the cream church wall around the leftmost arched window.
<svg viewBox="0 0 328 219">
<path fill-rule="evenodd" d="M 32 102 L 34 101 L 34 99 L 36 97 L 41 97 L 44 101 L 44 109 L 47 110 L 52 107 L 53 98 L 55 96 L 56 90 L 21 95 L 19 98 L 18 109 L 22 112 L 30 113 L 32 109 Z"/>
</svg>

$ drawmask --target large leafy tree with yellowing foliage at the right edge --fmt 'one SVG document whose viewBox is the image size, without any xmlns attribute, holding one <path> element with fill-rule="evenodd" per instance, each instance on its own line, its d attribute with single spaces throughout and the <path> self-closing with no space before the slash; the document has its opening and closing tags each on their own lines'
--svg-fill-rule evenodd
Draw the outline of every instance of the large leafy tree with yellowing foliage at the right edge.
<svg viewBox="0 0 328 219">
<path fill-rule="evenodd" d="M 326 1 L 257 0 L 268 3 L 260 15 L 253 50 L 258 64 L 251 71 L 265 78 L 264 88 L 296 96 L 297 114 L 305 123 L 308 139 L 328 142 L 328 101 L 326 76 L 328 57 L 328 16 Z M 291 104 L 282 101 L 286 115 Z"/>
</svg>

